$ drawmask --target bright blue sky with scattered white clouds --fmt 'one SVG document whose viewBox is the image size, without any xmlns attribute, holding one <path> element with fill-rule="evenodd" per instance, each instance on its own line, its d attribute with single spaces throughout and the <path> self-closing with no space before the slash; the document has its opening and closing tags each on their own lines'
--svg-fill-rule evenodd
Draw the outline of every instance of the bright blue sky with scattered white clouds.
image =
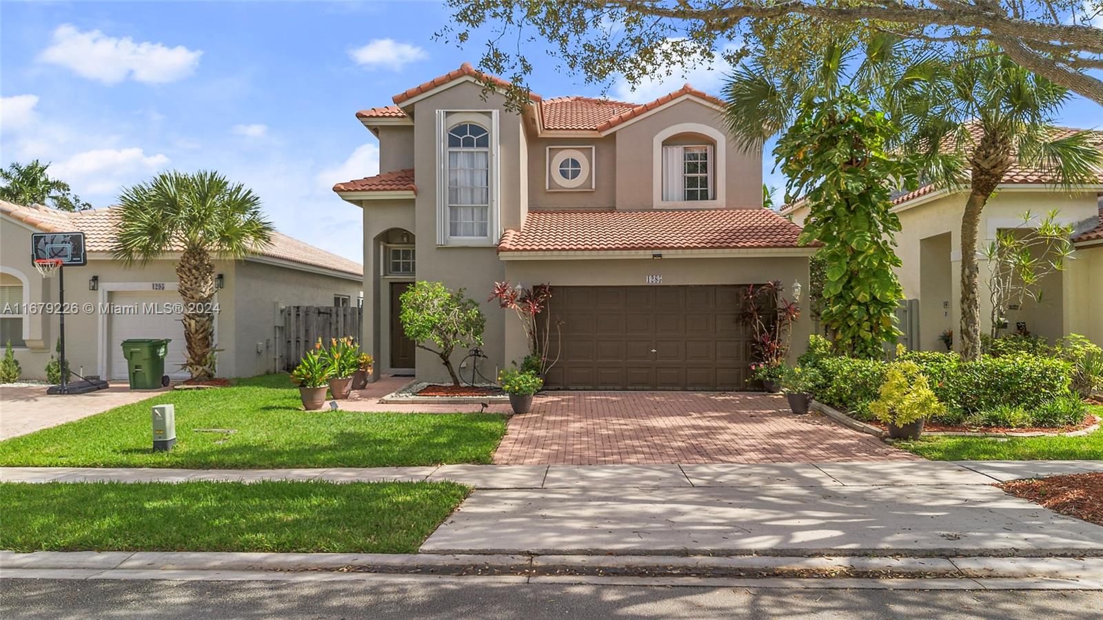
<svg viewBox="0 0 1103 620">
<path fill-rule="evenodd" d="M 377 142 L 353 115 L 478 61 L 478 40 L 432 40 L 448 18 L 437 2 L 2 1 L 0 164 L 51 161 L 95 206 L 160 170 L 219 170 L 280 231 L 360 260 L 360 210 L 330 191 L 377 171 Z M 555 66 L 537 62 L 534 90 L 599 94 Z M 687 79 L 716 92 L 721 71 L 609 95 L 645 101 Z M 1099 127 L 1103 110 L 1078 99 L 1061 121 Z M 783 184 L 769 146 L 763 168 Z"/>
</svg>

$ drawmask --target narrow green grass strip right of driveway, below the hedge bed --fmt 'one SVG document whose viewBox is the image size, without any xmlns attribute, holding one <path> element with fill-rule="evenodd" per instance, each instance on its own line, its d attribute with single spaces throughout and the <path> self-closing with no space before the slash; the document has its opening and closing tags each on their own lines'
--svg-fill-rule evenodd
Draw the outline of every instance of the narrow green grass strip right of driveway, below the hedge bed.
<svg viewBox="0 0 1103 620">
<path fill-rule="evenodd" d="M 1091 411 L 1103 417 L 1103 406 Z M 927 437 L 896 446 L 934 461 L 1101 460 L 1103 429 L 1084 437 Z"/>
</svg>

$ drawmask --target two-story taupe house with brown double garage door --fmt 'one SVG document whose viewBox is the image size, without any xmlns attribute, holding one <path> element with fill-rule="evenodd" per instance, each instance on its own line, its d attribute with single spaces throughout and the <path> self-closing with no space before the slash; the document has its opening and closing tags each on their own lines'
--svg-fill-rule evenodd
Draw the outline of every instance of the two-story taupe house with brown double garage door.
<svg viewBox="0 0 1103 620">
<path fill-rule="evenodd" d="M 482 303 L 484 377 L 520 363 L 520 322 L 486 301 L 508 280 L 554 287 L 549 387 L 747 387 L 740 296 L 773 279 L 807 290 L 811 254 L 797 226 L 762 209 L 761 151 L 737 148 L 721 103 L 689 85 L 647 104 L 533 94 L 522 114 L 507 86 L 464 64 L 356 114 L 379 140 L 381 173 L 334 191 L 364 210 L 377 372 L 447 378 L 403 334 L 398 296 L 414 280 Z M 793 342 L 807 338 L 804 314 Z"/>
</svg>

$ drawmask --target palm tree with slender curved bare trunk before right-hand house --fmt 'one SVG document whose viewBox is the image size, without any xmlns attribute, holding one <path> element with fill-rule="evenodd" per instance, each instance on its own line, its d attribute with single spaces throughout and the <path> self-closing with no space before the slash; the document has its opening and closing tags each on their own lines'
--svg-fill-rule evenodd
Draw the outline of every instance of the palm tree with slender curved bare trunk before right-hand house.
<svg viewBox="0 0 1103 620">
<path fill-rule="evenodd" d="M 1011 167 L 1037 170 L 1070 186 L 1099 178 L 1101 153 L 1090 131 L 1053 125 L 1069 90 L 1015 64 L 995 47 L 946 63 L 918 92 L 911 145 L 928 179 L 967 188 L 962 215 L 962 357 L 981 356 L 977 236 L 981 213 Z"/>
</svg>

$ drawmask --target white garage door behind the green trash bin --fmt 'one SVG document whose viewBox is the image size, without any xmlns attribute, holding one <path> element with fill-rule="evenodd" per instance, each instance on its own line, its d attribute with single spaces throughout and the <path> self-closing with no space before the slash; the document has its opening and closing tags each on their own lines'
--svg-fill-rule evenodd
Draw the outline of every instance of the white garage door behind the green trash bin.
<svg viewBox="0 0 1103 620">
<path fill-rule="evenodd" d="M 180 302 L 180 293 L 174 290 L 119 290 L 111 291 L 110 301 L 116 306 L 135 306 L 139 308 L 132 314 L 111 314 L 108 319 L 108 342 L 110 349 L 111 380 L 127 380 L 127 359 L 122 356 L 122 341 L 131 338 L 168 338 L 169 353 L 164 359 L 164 374 L 172 378 L 188 378 L 188 371 L 181 370 L 184 363 L 184 324 L 180 322 L 181 314 L 142 312 L 143 303 L 157 304 L 163 309 L 164 303 Z"/>
</svg>

